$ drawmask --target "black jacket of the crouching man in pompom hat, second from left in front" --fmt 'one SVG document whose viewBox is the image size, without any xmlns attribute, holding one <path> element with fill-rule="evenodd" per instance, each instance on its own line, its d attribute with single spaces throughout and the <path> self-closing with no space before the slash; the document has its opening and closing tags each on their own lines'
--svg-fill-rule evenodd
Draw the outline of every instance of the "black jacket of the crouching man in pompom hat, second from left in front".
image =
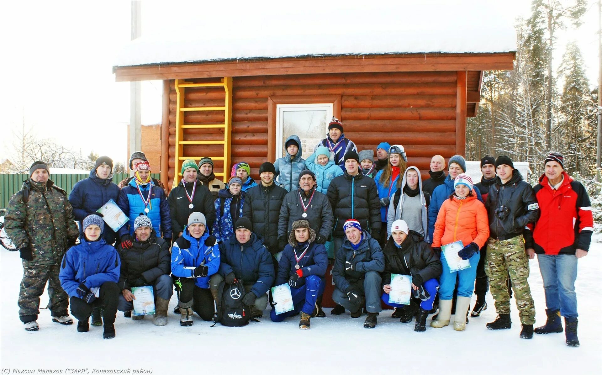
<svg viewBox="0 0 602 375">
<path fill-rule="evenodd" d="M 163 238 L 157 237 L 153 229 L 151 237 L 144 242 L 133 241 L 131 249 L 117 245 L 121 259 L 119 274 L 120 290 L 151 285 L 162 274 L 170 274 L 172 270 L 172 255 L 170 244 Z"/>
</svg>

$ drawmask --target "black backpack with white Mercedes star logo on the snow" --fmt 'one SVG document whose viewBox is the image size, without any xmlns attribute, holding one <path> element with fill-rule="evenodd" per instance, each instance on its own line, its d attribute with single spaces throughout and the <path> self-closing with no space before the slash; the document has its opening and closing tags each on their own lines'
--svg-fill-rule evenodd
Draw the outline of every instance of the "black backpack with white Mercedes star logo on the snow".
<svg viewBox="0 0 602 375">
<path fill-rule="evenodd" d="M 232 284 L 224 282 L 217 292 L 218 305 L 215 322 L 226 327 L 243 327 L 249 324 L 251 316 L 249 307 L 243 304 L 245 293 L 240 280 L 235 279 Z"/>
</svg>

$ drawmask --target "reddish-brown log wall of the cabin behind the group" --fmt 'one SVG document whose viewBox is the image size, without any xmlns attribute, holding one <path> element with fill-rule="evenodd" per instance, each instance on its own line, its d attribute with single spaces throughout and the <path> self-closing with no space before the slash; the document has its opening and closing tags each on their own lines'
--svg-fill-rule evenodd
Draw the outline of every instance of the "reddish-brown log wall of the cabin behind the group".
<svg viewBox="0 0 602 375">
<path fill-rule="evenodd" d="M 456 153 L 457 72 L 335 73 L 235 77 L 232 102 L 232 163 L 246 161 L 258 178 L 267 160 L 268 97 L 341 95 L 345 135 L 358 150 L 376 149 L 381 141 L 403 144 L 408 165 L 423 176 L 430 158 Z M 465 76 L 465 75 L 464 75 Z M 216 79 L 188 79 L 215 82 Z M 186 107 L 223 105 L 223 88 L 187 88 Z M 169 90 L 169 186 L 175 166 L 176 91 Z M 459 111 L 461 113 L 461 111 Z M 223 122 L 223 111 L 185 113 L 184 123 Z M 185 129 L 184 140 L 219 140 L 223 129 Z M 463 149 L 463 148 L 462 148 Z M 221 146 L 184 146 L 184 156 L 219 156 Z M 216 172 L 222 163 L 216 161 Z"/>
</svg>

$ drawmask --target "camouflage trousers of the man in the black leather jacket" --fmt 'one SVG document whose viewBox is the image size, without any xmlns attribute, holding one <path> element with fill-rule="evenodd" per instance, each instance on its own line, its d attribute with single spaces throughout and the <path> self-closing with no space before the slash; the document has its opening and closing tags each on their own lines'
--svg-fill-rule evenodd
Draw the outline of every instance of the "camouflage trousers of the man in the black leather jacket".
<svg viewBox="0 0 602 375">
<path fill-rule="evenodd" d="M 535 303 L 527 282 L 529 257 L 525 252 L 522 235 L 509 240 L 489 238 L 485 273 L 489 277 L 489 291 L 495 299 L 495 311 L 498 314 L 510 314 L 510 294 L 506 286 L 507 278 L 510 276 L 521 323 L 535 323 Z"/>
</svg>

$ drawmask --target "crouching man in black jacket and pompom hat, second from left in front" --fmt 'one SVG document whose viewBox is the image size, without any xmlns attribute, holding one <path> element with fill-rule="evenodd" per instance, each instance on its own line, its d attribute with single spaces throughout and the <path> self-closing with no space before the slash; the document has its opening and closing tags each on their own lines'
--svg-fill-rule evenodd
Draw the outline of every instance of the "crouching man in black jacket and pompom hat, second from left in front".
<svg viewBox="0 0 602 375">
<path fill-rule="evenodd" d="M 146 215 L 139 215 L 134 220 L 134 241 L 131 247 L 117 245 L 117 252 L 121 259 L 119 274 L 119 288 L 121 295 L 117 309 L 131 312 L 135 299 L 132 287 L 152 285 L 155 294 L 155 326 L 167 324 L 167 306 L 173 294 L 172 277 L 169 253 L 170 243 L 157 237 L 152 228 L 151 219 Z M 133 320 L 143 319 L 144 315 L 133 315 Z"/>
</svg>

